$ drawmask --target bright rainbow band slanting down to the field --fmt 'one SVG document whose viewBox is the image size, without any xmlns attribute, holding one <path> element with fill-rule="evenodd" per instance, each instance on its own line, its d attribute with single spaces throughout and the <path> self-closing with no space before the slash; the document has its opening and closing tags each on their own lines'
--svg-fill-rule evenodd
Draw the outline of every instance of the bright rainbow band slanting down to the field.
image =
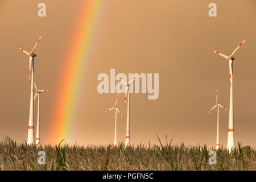
<svg viewBox="0 0 256 182">
<path fill-rule="evenodd" d="M 98 17 L 103 1 L 88 0 L 81 6 L 81 13 L 75 24 L 75 32 L 68 45 L 67 55 L 64 61 L 64 70 L 61 72 L 61 81 L 57 85 L 60 94 L 52 105 L 51 128 L 47 142 L 59 143 L 65 138 L 69 141 L 72 119 L 75 113 L 77 95 L 80 89 L 79 82 L 85 68 L 90 52 L 93 36 L 97 27 Z"/>
</svg>

